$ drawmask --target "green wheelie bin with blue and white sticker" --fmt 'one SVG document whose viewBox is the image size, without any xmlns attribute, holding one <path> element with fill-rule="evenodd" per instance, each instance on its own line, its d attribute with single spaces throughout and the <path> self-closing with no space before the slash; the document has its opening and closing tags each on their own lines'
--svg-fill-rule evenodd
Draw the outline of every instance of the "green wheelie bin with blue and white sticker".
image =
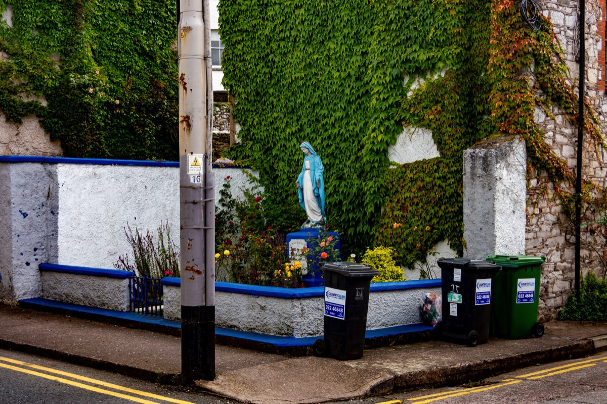
<svg viewBox="0 0 607 404">
<path fill-rule="evenodd" d="M 537 321 L 540 300 L 541 264 L 546 257 L 492 255 L 487 261 L 501 266 L 495 275 L 492 334 L 507 339 L 544 335 Z"/>
</svg>

